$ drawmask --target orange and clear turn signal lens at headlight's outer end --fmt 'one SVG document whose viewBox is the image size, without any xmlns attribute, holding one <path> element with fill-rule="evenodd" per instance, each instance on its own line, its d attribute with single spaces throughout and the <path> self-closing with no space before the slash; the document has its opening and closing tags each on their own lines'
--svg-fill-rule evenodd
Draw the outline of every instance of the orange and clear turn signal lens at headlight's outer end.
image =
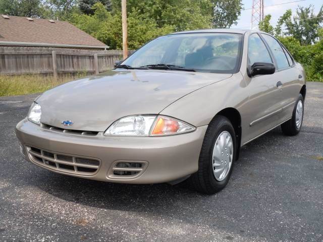
<svg viewBox="0 0 323 242">
<path fill-rule="evenodd" d="M 151 135 L 176 135 L 191 132 L 193 130 L 195 130 L 195 128 L 189 124 L 170 117 L 158 116 L 151 131 Z"/>
</svg>

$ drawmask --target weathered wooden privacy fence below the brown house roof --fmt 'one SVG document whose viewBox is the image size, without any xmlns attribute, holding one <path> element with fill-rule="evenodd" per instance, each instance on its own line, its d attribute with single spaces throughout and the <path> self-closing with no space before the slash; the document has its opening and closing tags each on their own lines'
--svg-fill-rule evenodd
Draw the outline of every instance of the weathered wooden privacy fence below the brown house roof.
<svg viewBox="0 0 323 242">
<path fill-rule="evenodd" d="M 131 53 L 133 51 L 130 51 Z M 0 74 L 98 74 L 114 68 L 121 50 L 81 50 L 50 47 L 0 47 Z"/>
</svg>

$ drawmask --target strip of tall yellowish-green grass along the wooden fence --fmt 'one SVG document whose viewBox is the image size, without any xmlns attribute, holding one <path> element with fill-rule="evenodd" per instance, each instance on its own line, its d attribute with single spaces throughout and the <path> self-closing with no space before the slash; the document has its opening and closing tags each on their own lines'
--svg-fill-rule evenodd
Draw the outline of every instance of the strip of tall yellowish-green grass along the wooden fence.
<svg viewBox="0 0 323 242">
<path fill-rule="evenodd" d="M 44 92 L 60 84 L 83 77 L 85 74 L 65 75 L 55 80 L 52 76 L 44 75 L 0 75 L 0 96 L 24 95 Z"/>
</svg>

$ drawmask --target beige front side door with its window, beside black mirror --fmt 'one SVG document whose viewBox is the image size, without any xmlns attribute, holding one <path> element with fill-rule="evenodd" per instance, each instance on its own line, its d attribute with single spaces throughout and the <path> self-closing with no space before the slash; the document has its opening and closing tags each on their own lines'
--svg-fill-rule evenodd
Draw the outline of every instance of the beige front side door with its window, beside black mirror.
<svg viewBox="0 0 323 242">
<path fill-rule="evenodd" d="M 249 36 L 248 66 L 256 62 L 275 63 L 267 46 L 257 33 Z M 246 80 L 249 94 L 245 114 L 244 143 L 274 128 L 279 123 L 281 87 L 277 86 L 277 73 L 257 75 Z"/>
</svg>

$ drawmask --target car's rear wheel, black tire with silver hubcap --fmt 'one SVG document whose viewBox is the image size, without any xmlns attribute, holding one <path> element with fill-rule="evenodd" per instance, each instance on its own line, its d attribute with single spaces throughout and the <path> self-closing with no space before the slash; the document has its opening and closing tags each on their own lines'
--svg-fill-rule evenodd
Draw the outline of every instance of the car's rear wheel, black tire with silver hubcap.
<svg viewBox="0 0 323 242">
<path fill-rule="evenodd" d="M 300 104 L 301 104 L 301 107 L 299 106 Z M 304 99 L 302 94 L 299 94 L 293 109 L 292 118 L 281 125 L 283 134 L 288 136 L 297 135 L 302 128 L 303 116 L 304 116 Z"/>
</svg>

